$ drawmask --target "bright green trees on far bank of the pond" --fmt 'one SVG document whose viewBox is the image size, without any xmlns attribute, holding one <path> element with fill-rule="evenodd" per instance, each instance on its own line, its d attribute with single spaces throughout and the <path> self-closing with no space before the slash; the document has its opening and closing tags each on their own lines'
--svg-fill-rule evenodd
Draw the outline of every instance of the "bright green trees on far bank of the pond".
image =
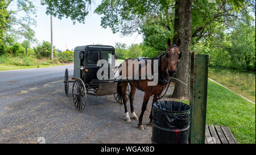
<svg viewBox="0 0 256 155">
<path fill-rule="evenodd" d="M 255 70 L 255 26 L 237 24 L 233 31 L 200 41 L 192 50 L 209 55 L 210 66 Z"/>
</svg>

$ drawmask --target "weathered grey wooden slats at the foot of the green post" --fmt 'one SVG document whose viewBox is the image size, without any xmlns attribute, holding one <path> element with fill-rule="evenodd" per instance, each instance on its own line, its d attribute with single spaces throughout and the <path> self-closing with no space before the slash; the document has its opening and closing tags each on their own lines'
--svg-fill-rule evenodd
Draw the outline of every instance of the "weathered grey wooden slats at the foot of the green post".
<svg viewBox="0 0 256 155">
<path fill-rule="evenodd" d="M 237 144 L 229 127 L 206 125 L 205 144 Z"/>
</svg>

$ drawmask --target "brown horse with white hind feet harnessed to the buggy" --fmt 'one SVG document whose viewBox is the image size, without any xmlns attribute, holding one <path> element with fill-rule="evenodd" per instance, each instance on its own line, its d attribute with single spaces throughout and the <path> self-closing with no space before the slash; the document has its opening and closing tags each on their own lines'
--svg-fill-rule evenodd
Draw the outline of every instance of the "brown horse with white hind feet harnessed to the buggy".
<svg viewBox="0 0 256 155">
<path fill-rule="evenodd" d="M 175 75 L 177 65 L 179 64 L 179 59 L 181 58 L 181 55 L 182 55 L 182 52 L 179 49 L 179 43 L 177 45 L 172 45 L 170 39 L 168 39 L 167 44 L 169 48 L 167 49 L 166 53 L 163 53 L 163 55 L 157 57 L 159 61 L 159 65 L 158 65 L 159 78 L 158 78 L 157 85 L 148 86 L 148 82 L 149 81 L 152 82 L 152 79 L 151 80 L 144 79 L 139 81 L 122 81 L 118 83 L 117 92 L 118 92 L 118 96 L 122 97 L 123 104 L 125 106 L 125 118 L 127 122 L 131 122 L 129 112 L 127 111 L 127 106 L 126 106 L 126 103 L 127 103 L 126 87 L 128 82 L 130 83 L 131 91 L 129 94 L 129 99 L 130 99 L 130 107 L 131 107 L 131 118 L 139 120 L 138 128 L 141 130 L 144 130 L 144 127 L 142 125 L 142 118 L 143 118 L 144 111 L 146 110 L 148 100 L 150 99 L 151 95 L 154 95 L 153 103 L 156 102 L 160 98 L 163 90 L 166 89 L 168 83 L 170 83 L 170 80 L 171 80 L 170 78 Z M 128 68 L 129 60 L 131 59 L 125 60 L 125 62 L 122 63 L 124 65 L 126 64 L 126 72 L 129 69 Z M 119 66 L 119 68 L 122 66 L 122 64 Z M 144 67 L 147 67 L 147 66 L 144 66 Z M 133 68 L 133 77 L 134 77 L 134 73 L 135 73 L 134 66 L 132 68 Z M 139 76 L 141 76 L 142 68 L 143 67 L 139 68 Z M 122 74 L 122 71 L 120 72 L 120 74 Z M 141 115 L 139 116 L 139 119 L 134 112 L 134 104 L 133 104 L 134 94 L 136 92 L 136 89 L 144 91 L 142 111 L 141 111 Z M 150 112 L 150 123 L 151 122 L 152 122 L 152 108 Z"/>
</svg>

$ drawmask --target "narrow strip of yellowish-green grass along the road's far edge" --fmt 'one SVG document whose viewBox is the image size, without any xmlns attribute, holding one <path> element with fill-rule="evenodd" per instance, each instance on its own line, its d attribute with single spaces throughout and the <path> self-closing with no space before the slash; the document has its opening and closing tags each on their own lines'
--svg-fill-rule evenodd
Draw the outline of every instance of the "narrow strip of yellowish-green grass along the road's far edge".
<svg viewBox="0 0 256 155">
<path fill-rule="evenodd" d="M 7 65 L 0 64 L 0 71 L 4 70 L 16 70 L 16 69 L 29 69 L 29 68 L 48 68 L 52 66 L 61 66 L 63 64 L 55 64 L 55 65 L 32 65 L 32 66 L 17 66 L 17 65 Z"/>
</svg>

